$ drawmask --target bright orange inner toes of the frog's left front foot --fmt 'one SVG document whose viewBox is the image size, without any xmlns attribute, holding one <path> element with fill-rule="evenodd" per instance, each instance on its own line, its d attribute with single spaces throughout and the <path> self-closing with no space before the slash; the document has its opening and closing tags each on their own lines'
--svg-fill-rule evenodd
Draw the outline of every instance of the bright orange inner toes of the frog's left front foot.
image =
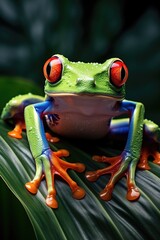
<svg viewBox="0 0 160 240">
<path fill-rule="evenodd" d="M 85 196 L 85 191 L 73 181 L 67 173 L 68 169 L 73 169 L 77 172 L 83 172 L 85 170 L 85 165 L 82 163 L 69 163 L 66 162 L 60 157 L 69 156 L 69 152 L 65 149 L 61 149 L 57 152 L 52 153 L 52 177 L 54 178 L 55 174 L 60 175 L 70 186 L 72 190 L 72 196 L 75 199 L 82 199 Z"/>
</svg>

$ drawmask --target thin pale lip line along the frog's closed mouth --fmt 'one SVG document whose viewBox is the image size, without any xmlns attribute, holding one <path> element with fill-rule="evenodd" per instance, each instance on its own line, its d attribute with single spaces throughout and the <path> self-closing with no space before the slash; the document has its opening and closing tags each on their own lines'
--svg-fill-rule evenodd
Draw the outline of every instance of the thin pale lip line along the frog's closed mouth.
<svg viewBox="0 0 160 240">
<path fill-rule="evenodd" d="M 95 93 L 57 93 L 57 92 L 48 92 L 45 91 L 46 96 L 48 97 L 96 97 L 96 98 L 108 98 L 108 99 L 114 99 L 116 101 L 122 101 L 124 99 L 124 96 L 112 96 L 107 94 L 95 94 Z"/>
</svg>

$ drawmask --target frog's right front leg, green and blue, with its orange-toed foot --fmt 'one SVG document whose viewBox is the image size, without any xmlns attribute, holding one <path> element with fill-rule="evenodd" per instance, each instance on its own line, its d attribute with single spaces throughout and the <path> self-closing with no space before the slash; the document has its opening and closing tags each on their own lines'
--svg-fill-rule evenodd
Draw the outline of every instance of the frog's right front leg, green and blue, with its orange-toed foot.
<svg viewBox="0 0 160 240">
<path fill-rule="evenodd" d="M 95 160 L 111 163 L 111 165 L 104 169 L 86 173 L 86 177 L 90 181 L 95 181 L 103 174 L 111 174 L 109 183 L 100 193 L 100 197 L 103 200 L 111 199 L 116 182 L 123 176 L 127 177 L 127 199 L 133 201 L 140 196 L 140 192 L 135 183 L 135 170 L 142 145 L 144 106 L 141 103 L 124 100 L 121 103 L 121 111 L 128 112 L 130 116 L 128 138 L 124 151 L 120 156 L 113 158 L 95 157 Z"/>
</svg>

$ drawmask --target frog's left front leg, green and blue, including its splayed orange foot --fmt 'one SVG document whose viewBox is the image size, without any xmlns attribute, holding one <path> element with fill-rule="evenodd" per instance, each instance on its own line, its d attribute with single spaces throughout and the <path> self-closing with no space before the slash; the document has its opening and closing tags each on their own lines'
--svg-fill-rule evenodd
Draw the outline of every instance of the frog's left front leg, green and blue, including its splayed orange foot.
<svg viewBox="0 0 160 240">
<path fill-rule="evenodd" d="M 58 203 L 54 186 L 55 174 L 60 175 L 69 184 L 74 198 L 81 199 L 84 197 L 85 191 L 70 178 L 67 169 L 71 168 L 78 172 L 82 172 L 85 170 L 85 166 L 80 163 L 67 163 L 60 159 L 62 156 L 68 156 L 68 151 L 60 150 L 58 152 L 53 152 L 49 148 L 42 118 L 44 115 L 51 113 L 53 108 L 53 101 L 48 100 L 30 105 L 25 109 L 27 137 L 36 162 L 35 176 L 31 182 L 26 183 L 25 187 L 29 192 L 36 194 L 41 179 L 43 175 L 45 175 L 48 189 L 46 204 L 51 208 L 57 208 Z"/>
</svg>

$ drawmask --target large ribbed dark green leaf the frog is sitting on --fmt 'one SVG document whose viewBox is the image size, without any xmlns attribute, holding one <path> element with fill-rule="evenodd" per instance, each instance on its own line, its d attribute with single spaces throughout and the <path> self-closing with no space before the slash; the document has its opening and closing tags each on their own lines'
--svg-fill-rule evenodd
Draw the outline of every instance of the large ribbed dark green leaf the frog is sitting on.
<svg viewBox="0 0 160 240">
<path fill-rule="evenodd" d="M 0 122 L 0 175 L 9 189 L 23 205 L 33 225 L 37 239 L 152 239 L 159 238 L 160 230 L 160 167 L 150 163 L 151 171 L 137 171 L 136 181 L 141 197 L 136 202 L 125 199 L 126 180 L 121 179 L 109 202 L 100 200 L 98 193 L 108 182 L 109 176 L 90 183 L 83 173 L 70 171 L 71 177 L 85 188 L 86 197 L 74 200 L 68 185 L 56 179 L 59 208 L 45 205 L 47 194 L 43 181 L 36 196 L 24 188 L 35 172 L 25 133 L 22 140 L 7 136 L 10 127 Z M 68 161 L 83 162 L 87 170 L 102 167 L 91 160 L 96 153 L 116 155 L 119 150 L 110 149 L 103 142 L 79 142 L 60 139 L 53 149 L 70 151 Z"/>
</svg>

